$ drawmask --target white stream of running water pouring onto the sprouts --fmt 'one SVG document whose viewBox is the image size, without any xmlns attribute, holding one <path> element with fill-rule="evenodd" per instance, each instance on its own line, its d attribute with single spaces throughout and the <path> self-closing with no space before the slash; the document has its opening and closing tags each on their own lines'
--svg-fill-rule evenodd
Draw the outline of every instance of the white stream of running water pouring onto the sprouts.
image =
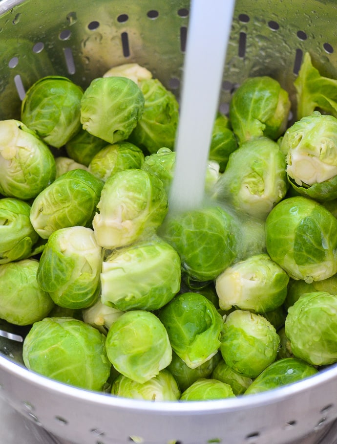
<svg viewBox="0 0 337 444">
<path fill-rule="evenodd" d="M 184 62 L 172 211 L 200 207 L 235 0 L 192 0 Z"/>
</svg>

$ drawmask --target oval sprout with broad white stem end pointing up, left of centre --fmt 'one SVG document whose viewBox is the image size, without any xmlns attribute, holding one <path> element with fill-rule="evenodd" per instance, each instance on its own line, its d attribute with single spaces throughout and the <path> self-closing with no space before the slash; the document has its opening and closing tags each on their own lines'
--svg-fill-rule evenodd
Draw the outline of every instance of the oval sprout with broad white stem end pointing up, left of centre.
<svg viewBox="0 0 337 444">
<path fill-rule="evenodd" d="M 84 226 L 54 231 L 42 252 L 37 281 L 55 304 L 69 309 L 93 305 L 100 292 L 102 248 Z"/>
</svg>

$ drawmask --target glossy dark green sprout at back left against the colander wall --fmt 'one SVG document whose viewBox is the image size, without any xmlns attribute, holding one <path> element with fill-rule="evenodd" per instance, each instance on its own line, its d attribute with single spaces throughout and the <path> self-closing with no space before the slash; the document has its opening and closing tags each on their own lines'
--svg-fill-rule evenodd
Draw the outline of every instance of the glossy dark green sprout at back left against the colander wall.
<svg viewBox="0 0 337 444">
<path fill-rule="evenodd" d="M 42 77 L 26 92 L 21 120 L 45 143 L 60 148 L 81 128 L 82 96 L 82 88 L 66 77 Z"/>
</svg>

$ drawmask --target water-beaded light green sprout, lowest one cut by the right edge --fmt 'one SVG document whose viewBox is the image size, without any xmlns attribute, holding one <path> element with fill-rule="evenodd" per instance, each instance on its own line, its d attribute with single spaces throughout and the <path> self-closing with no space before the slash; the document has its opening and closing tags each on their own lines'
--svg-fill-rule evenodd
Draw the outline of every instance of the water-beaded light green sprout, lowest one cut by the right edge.
<svg viewBox="0 0 337 444">
<path fill-rule="evenodd" d="M 337 362 L 337 298 L 326 291 L 304 293 L 288 309 L 285 333 L 295 357 L 312 365 Z"/>
</svg>

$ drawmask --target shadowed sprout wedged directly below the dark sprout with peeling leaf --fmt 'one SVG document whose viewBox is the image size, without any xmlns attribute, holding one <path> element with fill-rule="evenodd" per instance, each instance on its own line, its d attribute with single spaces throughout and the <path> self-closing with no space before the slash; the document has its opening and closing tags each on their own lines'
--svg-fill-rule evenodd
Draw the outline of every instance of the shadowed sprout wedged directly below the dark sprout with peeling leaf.
<svg viewBox="0 0 337 444">
<path fill-rule="evenodd" d="M 168 366 L 168 370 L 177 381 L 181 392 L 184 392 L 190 385 L 200 378 L 207 378 L 211 376 L 214 367 L 221 359 L 219 353 L 216 353 L 203 364 L 191 369 L 176 353 L 172 353 L 172 360 Z"/>
</svg>

